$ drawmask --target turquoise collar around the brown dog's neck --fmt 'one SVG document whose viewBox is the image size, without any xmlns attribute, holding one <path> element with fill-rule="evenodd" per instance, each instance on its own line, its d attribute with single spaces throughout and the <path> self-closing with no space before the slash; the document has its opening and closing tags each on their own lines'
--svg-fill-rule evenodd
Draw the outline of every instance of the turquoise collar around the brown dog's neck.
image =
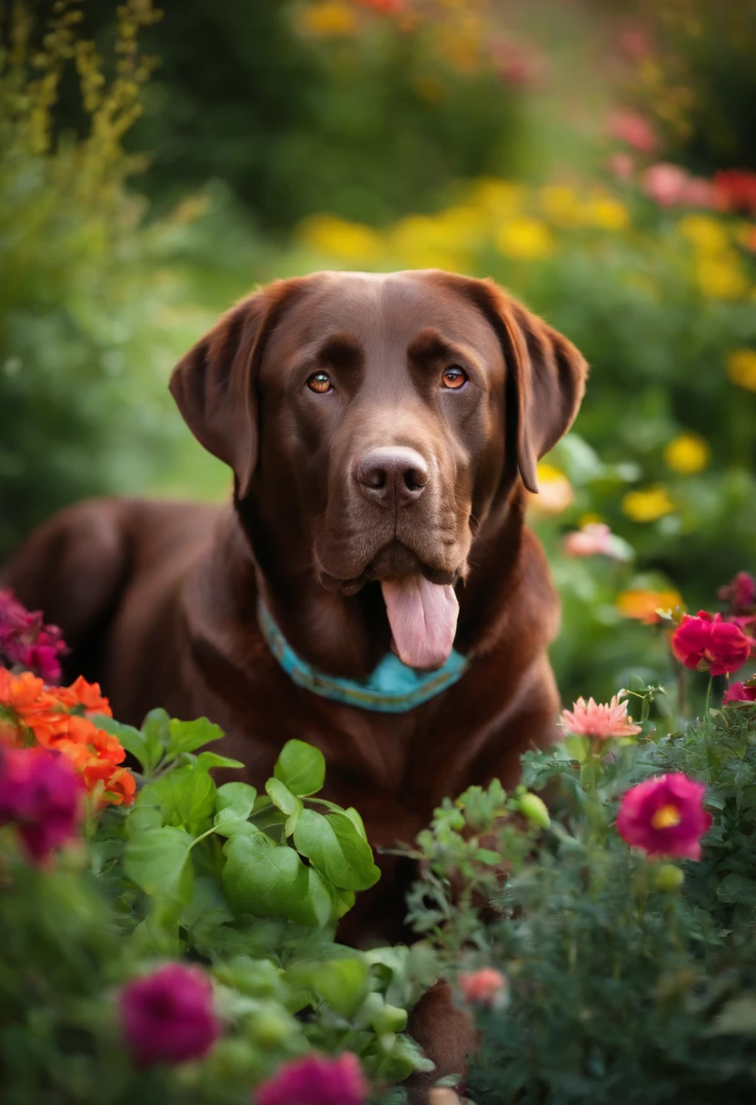
<svg viewBox="0 0 756 1105">
<path fill-rule="evenodd" d="M 417 672 L 389 652 L 364 682 L 342 680 L 336 675 L 318 672 L 297 656 L 262 602 L 258 608 L 258 617 L 267 646 L 298 686 L 306 687 L 323 698 L 358 706 L 360 709 L 374 709 L 379 714 L 406 714 L 408 709 L 434 698 L 447 687 L 453 686 L 470 663 L 452 649 L 443 667 L 438 667 L 434 672 Z"/>
</svg>

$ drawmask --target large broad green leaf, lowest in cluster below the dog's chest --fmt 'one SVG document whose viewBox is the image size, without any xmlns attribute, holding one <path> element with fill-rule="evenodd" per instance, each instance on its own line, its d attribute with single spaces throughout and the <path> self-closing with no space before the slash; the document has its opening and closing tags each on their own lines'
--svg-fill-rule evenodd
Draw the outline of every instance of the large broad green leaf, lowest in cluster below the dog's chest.
<svg viewBox="0 0 756 1105">
<path fill-rule="evenodd" d="M 333 898 L 327 885 L 294 849 L 254 832 L 231 836 L 223 852 L 223 890 L 238 912 L 316 927 L 330 919 Z"/>
</svg>

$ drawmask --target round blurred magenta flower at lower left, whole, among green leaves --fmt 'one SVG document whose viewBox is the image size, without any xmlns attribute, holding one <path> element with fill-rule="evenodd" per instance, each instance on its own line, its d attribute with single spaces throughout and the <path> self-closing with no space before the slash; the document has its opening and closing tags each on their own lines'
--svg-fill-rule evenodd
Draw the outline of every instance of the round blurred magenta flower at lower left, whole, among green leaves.
<svg viewBox="0 0 756 1105">
<path fill-rule="evenodd" d="M 168 964 L 120 991 L 126 1044 L 137 1066 L 201 1059 L 220 1035 L 212 986 L 199 967 Z"/>
</svg>

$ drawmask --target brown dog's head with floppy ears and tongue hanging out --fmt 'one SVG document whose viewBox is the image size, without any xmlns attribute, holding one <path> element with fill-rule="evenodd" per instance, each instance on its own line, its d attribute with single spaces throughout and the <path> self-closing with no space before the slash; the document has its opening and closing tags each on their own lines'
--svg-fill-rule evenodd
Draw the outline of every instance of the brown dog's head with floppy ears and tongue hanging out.
<svg viewBox="0 0 756 1105">
<path fill-rule="evenodd" d="M 568 430 L 586 364 L 492 281 L 317 273 L 242 301 L 180 361 L 189 428 L 326 587 L 380 580 L 395 649 L 432 667 L 453 586 L 517 475 Z"/>
</svg>

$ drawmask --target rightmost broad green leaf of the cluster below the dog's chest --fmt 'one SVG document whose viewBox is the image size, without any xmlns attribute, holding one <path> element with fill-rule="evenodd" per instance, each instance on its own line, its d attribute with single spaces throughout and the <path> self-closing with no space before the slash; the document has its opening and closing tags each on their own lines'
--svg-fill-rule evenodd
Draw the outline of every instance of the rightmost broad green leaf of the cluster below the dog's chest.
<svg viewBox="0 0 756 1105">
<path fill-rule="evenodd" d="M 380 878 L 372 851 L 346 813 L 304 810 L 294 830 L 294 843 L 334 885 L 364 891 Z"/>
</svg>

